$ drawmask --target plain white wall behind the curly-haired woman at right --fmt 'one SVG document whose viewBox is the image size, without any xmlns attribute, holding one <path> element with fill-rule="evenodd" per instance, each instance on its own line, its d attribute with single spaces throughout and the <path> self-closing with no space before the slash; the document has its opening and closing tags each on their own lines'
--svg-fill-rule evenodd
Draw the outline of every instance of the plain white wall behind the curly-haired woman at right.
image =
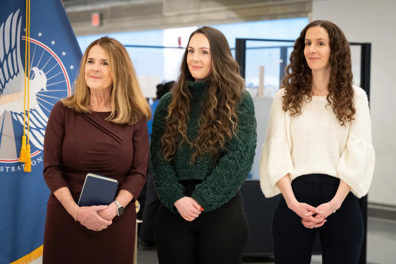
<svg viewBox="0 0 396 264">
<path fill-rule="evenodd" d="M 371 42 L 370 109 L 375 171 L 369 202 L 396 205 L 396 1 L 317 0 L 312 20 L 337 24 L 350 42 Z"/>
</svg>

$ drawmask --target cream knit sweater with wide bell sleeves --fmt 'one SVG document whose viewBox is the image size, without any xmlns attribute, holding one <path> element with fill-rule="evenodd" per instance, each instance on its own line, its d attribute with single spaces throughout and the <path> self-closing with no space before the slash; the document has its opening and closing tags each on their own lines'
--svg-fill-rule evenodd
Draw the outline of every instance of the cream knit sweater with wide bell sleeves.
<svg viewBox="0 0 396 264">
<path fill-rule="evenodd" d="M 260 183 L 266 197 L 280 193 L 276 182 L 321 173 L 344 180 L 361 198 L 369 190 L 375 154 L 367 95 L 354 86 L 355 120 L 341 126 L 326 96 L 312 96 L 302 114 L 290 117 L 282 110 L 284 89 L 276 92 L 260 157 Z"/>
</svg>

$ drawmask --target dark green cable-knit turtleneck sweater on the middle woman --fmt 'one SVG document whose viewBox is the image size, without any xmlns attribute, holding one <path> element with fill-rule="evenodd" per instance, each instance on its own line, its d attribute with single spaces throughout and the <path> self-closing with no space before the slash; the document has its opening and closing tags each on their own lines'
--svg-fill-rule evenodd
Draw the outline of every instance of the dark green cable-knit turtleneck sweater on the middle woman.
<svg viewBox="0 0 396 264">
<path fill-rule="evenodd" d="M 198 120 L 205 105 L 204 94 L 208 82 L 188 81 L 193 103 L 189 113 L 187 137 L 194 142 L 198 136 Z M 204 180 L 196 185 L 191 198 L 195 199 L 204 212 L 215 210 L 236 195 L 251 170 L 257 142 L 257 123 L 254 105 L 250 94 L 244 91 L 238 103 L 238 138 L 227 142 L 226 150 L 220 153 L 220 159 L 213 168 L 213 160 L 198 158 L 190 164 L 194 148 L 186 142 L 177 146 L 171 161 L 164 160 L 161 139 L 165 133 L 168 105 L 172 93 L 164 95 L 158 104 L 152 123 L 151 134 L 151 171 L 154 184 L 161 202 L 173 213 L 177 213 L 174 203 L 185 197 L 185 189 L 180 180 Z"/>
</svg>

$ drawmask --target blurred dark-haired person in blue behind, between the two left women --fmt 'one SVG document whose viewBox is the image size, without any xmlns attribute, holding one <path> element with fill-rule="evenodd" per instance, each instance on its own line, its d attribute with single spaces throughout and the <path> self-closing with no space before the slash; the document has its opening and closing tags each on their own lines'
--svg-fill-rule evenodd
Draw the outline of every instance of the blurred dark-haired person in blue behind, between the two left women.
<svg viewBox="0 0 396 264">
<path fill-rule="evenodd" d="M 151 126 L 152 120 L 154 117 L 154 112 L 160 103 L 160 99 L 166 93 L 168 93 L 175 82 L 167 82 L 166 84 L 158 84 L 157 85 L 157 98 L 150 105 L 152 118 L 147 121 L 148 128 L 148 138 L 151 137 Z M 157 192 L 154 187 L 154 182 L 151 175 L 151 166 L 150 159 L 148 160 L 147 167 L 147 182 L 145 184 L 146 188 L 146 200 L 145 200 L 145 208 L 143 210 L 143 222 L 140 224 L 141 228 L 139 230 L 139 247 L 143 250 L 147 249 L 155 249 L 154 242 L 154 221 L 157 216 L 158 209 L 160 208 L 160 199 L 158 198 Z"/>
</svg>

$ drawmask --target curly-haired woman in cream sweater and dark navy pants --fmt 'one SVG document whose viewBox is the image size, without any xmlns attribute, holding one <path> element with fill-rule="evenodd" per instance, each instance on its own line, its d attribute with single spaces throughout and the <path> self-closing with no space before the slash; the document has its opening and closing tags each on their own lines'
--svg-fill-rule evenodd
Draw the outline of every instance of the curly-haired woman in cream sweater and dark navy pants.
<svg viewBox="0 0 396 264">
<path fill-rule="evenodd" d="M 323 264 L 357 264 L 364 229 L 358 198 L 374 170 L 367 95 L 353 86 L 345 35 L 314 21 L 297 38 L 276 92 L 260 158 L 276 264 L 309 264 L 316 233 Z M 328 221 L 328 222 L 327 222 Z"/>
</svg>

